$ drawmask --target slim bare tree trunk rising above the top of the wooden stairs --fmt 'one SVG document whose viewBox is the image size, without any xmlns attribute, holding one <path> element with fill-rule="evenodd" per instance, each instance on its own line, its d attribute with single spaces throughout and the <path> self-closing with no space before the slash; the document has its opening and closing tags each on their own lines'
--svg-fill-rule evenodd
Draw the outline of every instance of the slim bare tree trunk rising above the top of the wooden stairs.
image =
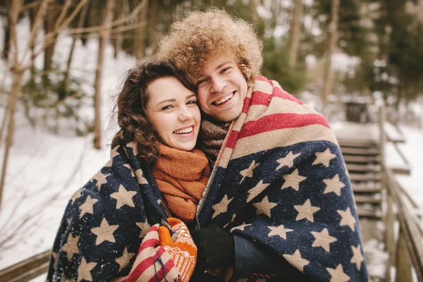
<svg viewBox="0 0 423 282">
<path fill-rule="evenodd" d="M 332 0 L 332 19 L 329 24 L 328 51 L 326 53 L 326 65 L 324 69 L 324 87 L 321 95 L 323 106 L 328 103 L 328 96 L 331 94 L 333 85 L 332 55 L 335 51 L 339 16 L 339 0 Z"/>
</svg>

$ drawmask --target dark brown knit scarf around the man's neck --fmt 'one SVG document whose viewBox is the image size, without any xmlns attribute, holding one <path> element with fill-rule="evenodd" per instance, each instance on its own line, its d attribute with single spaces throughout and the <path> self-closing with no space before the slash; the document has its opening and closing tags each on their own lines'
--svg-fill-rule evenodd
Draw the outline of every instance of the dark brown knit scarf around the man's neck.
<svg viewBox="0 0 423 282">
<path fill-rule="evenodd" d="M 216 161 L 219 155 L 223 140 L 226 134 L 228 134 L 230 125 L 231 122 L 220 123 L 212 121 L 212 119 L 207 116 L 202 118 L 198 138 L 201 140 L 202 152 L 205 152 L 212 162 Z"/>
</svg>

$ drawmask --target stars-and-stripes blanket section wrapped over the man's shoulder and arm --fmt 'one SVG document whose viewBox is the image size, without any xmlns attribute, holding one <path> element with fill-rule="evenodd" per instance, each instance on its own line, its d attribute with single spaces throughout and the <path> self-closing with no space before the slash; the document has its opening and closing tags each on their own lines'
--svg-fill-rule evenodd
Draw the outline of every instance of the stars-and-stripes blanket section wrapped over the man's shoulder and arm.
<svg viewBox="0 0 423 282">
<path fill-rule="evenodd" d="M 336 137 L 278 82 L 257 78 L 229 129 L 197 209 L 200 228 L 212 221 L 281 255 L 306 281 L 368 281 Z"/>
</svg>

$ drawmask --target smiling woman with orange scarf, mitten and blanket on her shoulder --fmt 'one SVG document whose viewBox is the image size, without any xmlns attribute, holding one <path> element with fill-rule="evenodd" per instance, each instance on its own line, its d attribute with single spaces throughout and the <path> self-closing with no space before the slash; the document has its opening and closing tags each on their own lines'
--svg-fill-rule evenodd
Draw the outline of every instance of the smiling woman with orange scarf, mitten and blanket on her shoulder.
<svg viewBox="0 0 423 282">
<path fill-rule="evenodd" d="M 196 248 L 168 217 L 191 224 L 210 174 L 193 90 L 171 63 L 128 72 L 111 159 L 68 203 L 48 281 L 189 280 Z"/>
</svg>

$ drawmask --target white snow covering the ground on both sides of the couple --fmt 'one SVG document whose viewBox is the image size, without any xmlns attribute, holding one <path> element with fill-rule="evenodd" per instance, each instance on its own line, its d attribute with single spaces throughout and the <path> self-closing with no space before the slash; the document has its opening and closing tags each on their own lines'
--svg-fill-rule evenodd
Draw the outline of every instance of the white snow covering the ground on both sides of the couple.
<svg viewBox="0 0 423 282">
<path fill-rule="evenodd" d="M 27 22 L 24 20 L 18 29 L 19 38 L 28 38 Z M 4 35 L 0 33 L 0 40 Z M 97 41 L 89 40 L 84 47 L 78 42 L 75 49 L 72 73 L 84 79 L 85 90 L 93 92 L 94 69 L 97 60 Z M 61 36 L 56 46 L 54 61 L 64 66 L 71 38 Z M 37 61 L 38 64 L 42 60 Z M 0 269 L 19 262 L 27 257 L 47 250 L 53 244 L 66 203 L 75 190 L 80 188 L 109 159 L 109 147 L 113 128 L 107 129 L 113 97 L 118 92 L 125 71 L 135 65 L 135 59 L 118 54 L 113 58 L 111 47 L 106 49 L 103 76 L 103 149 L 92 147 L 92 135 L 75 137 L 66 132 L 66 126 L 53 135 L 42 126 L 32 128 L 18 108 L 16 114 L 16 133 L 11 148 L 4 199 L 0 210 Z M 0 82 L 6 73 L 6 63 L 0 61 Z M 10 86 L 10 78 L 6 80 Z M 1 99 L 4 103 L 4 99 Z M 93 116 L 93 109 L 82 113 Z M 4 107 L 0 116 L 4 115 Z M 412 174 L 398 176 L 404 188 L 409 190 L 415 200 L 423 207 L 423 190 L 419 175 L 423 172 L 423 131 L 404 126 L 407 143 L 400 145 L 410 161 Z M 3 147 L 0 157 L 2 158 Z M 1 246 L 1 245 L 0 245 Z M 374 271 L 380 271 L 376 266 Z M 39 278 L 42 281 L 42 278 Z"/>
</svg>

